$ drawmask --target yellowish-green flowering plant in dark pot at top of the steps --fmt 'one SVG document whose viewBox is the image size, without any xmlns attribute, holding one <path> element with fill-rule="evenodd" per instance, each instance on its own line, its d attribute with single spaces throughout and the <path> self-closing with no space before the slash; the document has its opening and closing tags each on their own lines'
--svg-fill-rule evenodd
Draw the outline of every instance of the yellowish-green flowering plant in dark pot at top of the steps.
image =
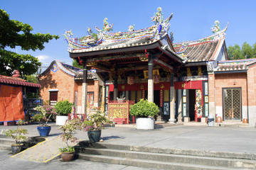
<svg viewBox="0 0 256 170">
<path fill-rule="evenodd" d="M 102 130 L 104 123 L 112 123 L 105 116 L 105 113 L 95 109 L 89 114 L 89 119 L 82 123 L 82 128 L 84 130 Z"/>
</svg>

